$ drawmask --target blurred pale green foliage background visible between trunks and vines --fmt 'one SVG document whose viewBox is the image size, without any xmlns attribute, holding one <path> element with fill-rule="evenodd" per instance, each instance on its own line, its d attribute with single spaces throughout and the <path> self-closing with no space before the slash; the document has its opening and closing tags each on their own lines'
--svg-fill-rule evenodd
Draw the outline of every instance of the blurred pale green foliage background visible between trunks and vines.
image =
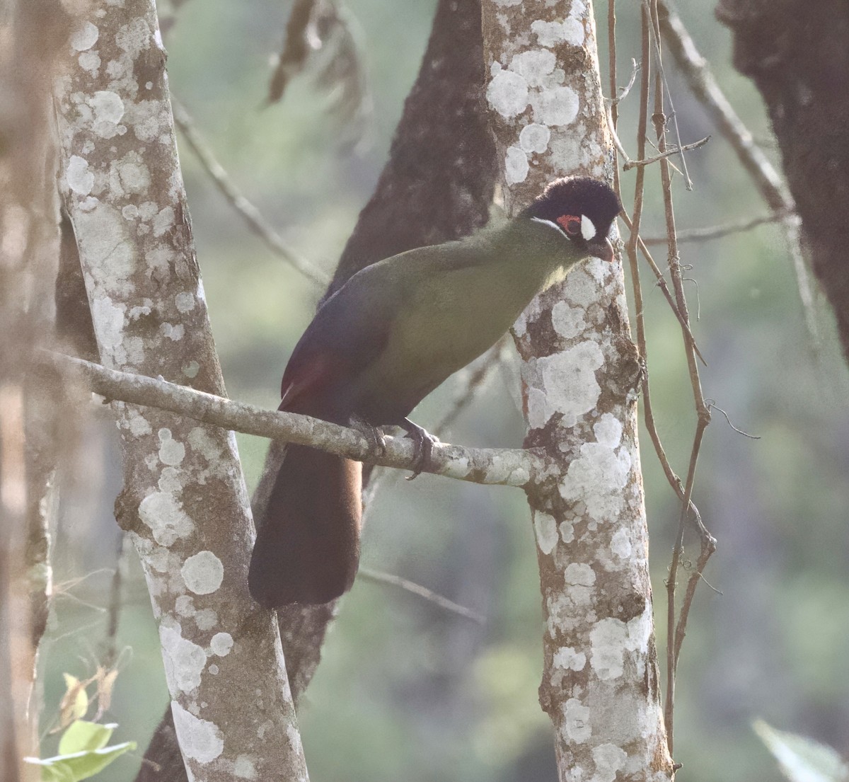
<svg viewBox="0 0 849 782">
<path fill-rule="evenodd" d="M 285 239 L 330 271 L 380 174 L 403 99 L 430 33 L 435 0 L 348 0 L 374 101 L 364 143 L 340 144 L 329 98 L 309 76 L 281 104 L 261 109 L 269 58 L 278 51 L 288 0 L 194 0 L 166 33 L 171 89 L 194 116 L 222 165 Z M 711 4 L 679 3 L 754 136 L 777 158 L 762 102 L 731 65 L 730 37 Z M 160 13 L 169 12 L 167 3 Z M 606 3 L 596 8 L 605 37 Z M 619 3 L 621 84 L 639 56 L 638 3 Z M 606 62 L 604 41 L 599 43 Z M 604 68 L 603 68 L 604 71 Z M 684 142 L 709 133 L 688 156 L 695 188 L 678 178 L 680 228 L 754 217 L 767 207 L 728 144 L 694 102 L 671 62 L 669 86 Z M 606 82 L 605 82 L 606 83 Z M 620 133 L 634 154 L 636 93 L 621 104 Z M 182 139 L 181 139 L 182 141 Z M 194 234 L 228 392 L 274 408 L 279 378 L 312 317 L 319 291 L 265 248 L 181 144 Z M 623 173 L 633 191 L 634 172 Z M 661 233 L 649 170 L 644 235 Z M 846 216 L 835 216 L 845 219 Z M 411 220 L 415 215 L 410 216 Z M 663 251 L 656 250 L 659 261 Z M 719 549 L 689 622 L 679 667 L 675 760 L 679 779 L 766 782 L 779 773 L 751 731 L 763 717 L 780 729 L 849 750 L 849 416 L 846 367 L 831 317 L 818 302 L 820 336 L 807 334 L 790 257 L 779 228 L 764 226 L 683 245 L 692 278 L 694 334 L 709 366 L 706 397 L 721 414 L 706 433 L 695 501 Z M 644 277 L 649 373 L 666 452 L 686 472 L 694 404 L 677 323 Z M 494 377 L 445 439 L 520 446 L 518 377 Z M 456 380 L 415 416 L 432 425 Z M 83 457 L 65 476 L 57 546 L 59 597 L 42 669 L 48 716 L 61 672 L 93 672 L 105 633 L 104 605 L 118 535 L 111 504 L 120 487 L 113 427 L 103 416 Z M 666 566 L 678 508 L 644 433 L 643 468 L 655 610 L 665 614 Z M 252 487 L 267 443 L 239 436 Z M 689 541 L 689 554 L 697 544 Z M 423 475 L 390 476 L 368 509 L 363 565 L 420 582 L 486 615 L 481 627 L 395 588 L 358 581 L 324 648 L 301 706 L 316 782 L 556 779 L 548 718 L 537 704 L 541 610 L 534 543 L 523 495 Z M 155 625 L 130 554 L 121 614 L 121 673 L 108 714 L 115 740 L 147 744 L 167 703 Z M 665 644 L 662 620 L 658 645 Z M 662 658 L 661 653 L 661 658 Z M 45 740 L 49 748 L 52 738 Z M 99 779 L 132 779 L 140 757 L 121 758 Z"/>
</svg>

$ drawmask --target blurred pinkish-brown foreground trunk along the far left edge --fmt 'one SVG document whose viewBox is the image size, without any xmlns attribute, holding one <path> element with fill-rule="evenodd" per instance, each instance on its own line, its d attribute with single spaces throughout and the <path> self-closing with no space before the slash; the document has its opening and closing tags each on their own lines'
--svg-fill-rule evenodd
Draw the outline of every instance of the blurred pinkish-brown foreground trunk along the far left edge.
<svg viewBox="0 0 849 782">
<path fill-rule="evenodd" d="M 47 522 L 62 427 L 59 386 L 31 363 L 52 327 L 51 88 L 68 21 L 57 0 L 0 3 L 0 779 L 9 782 L 40 778 L 23 758 L 38 754 L 33 689 L 52 588 Z"/>
</svg>

